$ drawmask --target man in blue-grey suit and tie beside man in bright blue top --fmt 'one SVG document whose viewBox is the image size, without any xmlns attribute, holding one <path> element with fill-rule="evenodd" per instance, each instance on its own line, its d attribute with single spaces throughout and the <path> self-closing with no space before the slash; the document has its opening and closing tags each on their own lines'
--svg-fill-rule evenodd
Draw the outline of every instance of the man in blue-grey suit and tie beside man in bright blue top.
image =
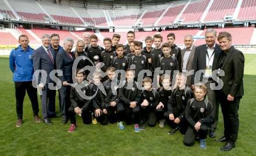
<svg viewBox="0 0 256 156">
<path fill-rule="evenodd" d="M 40 90 L 42 89 L 42 95 L 41 95 L 41 106 L 42 106 L 42 121 L 47 125 L 52 125 L 51 120 L 49 119 L 49 105 L 54 103 L 54 98 L 52 94 L 55 92 L 55 90 L 49 89 L 49 83 L 52 83 L 52 79 L 50 78 L 50 72 L 54 70 L 54 60 L 55 55 L 54 52 L 52 52 L 49 49 L 51 43 L 51 38 L 49 35 L 42 36 L 42 46 L 40 48 L 37 48 L 34 50 L 33 53 L 33 64 L 34 64 L 34 71 L 37 70 L 44 70 L 47 73 L 46 82 L 44 84 L 42 77 L 42 72 L 38 75 L 38 87 Z M 49 100 L 49 103 L 48 103 Z M 48 103 L 48 105 L 47 105 Z"/>
</svg>

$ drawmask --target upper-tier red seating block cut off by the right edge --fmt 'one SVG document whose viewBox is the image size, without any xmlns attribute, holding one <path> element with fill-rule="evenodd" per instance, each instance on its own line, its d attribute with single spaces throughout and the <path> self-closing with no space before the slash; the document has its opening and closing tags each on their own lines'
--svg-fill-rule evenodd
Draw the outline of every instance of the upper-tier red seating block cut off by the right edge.
<svg viewBox="0 0 256 156">
<path fill-rule="evenodd" d="M 256 1 L 243 0 L 237 19 L 238 20 L 255 20 L 256 19 Z"/>
</svg>

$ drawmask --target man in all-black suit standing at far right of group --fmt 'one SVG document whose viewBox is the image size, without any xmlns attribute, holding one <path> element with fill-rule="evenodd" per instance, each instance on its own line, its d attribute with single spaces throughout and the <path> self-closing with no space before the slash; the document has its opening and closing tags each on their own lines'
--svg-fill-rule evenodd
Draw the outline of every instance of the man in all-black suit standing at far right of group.
<svg viewBox="0 0 256 156">
<path fill-rule="evenodd" d="M 219 77 L 223 81 L 223 88 L 218 92 L 224 121 L 224 136 L 216 142 L 227 142 L 221 150 L 229 151 L 235 147 L 239 130 L 237 111 L 240 99 L 244 95 L 244 55 L 232 46 L 232 36 L 229 32 L 219 33 L 217 39 L 222 49 L 218 67 L 225 72 L 225 76 Z"/>
</svg>

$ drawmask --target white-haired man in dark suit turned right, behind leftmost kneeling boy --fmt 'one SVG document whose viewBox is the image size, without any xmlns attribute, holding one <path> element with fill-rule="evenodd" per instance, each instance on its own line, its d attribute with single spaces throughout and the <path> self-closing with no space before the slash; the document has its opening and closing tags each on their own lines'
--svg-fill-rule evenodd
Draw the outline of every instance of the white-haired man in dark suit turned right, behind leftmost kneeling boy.
<svg viewBox="0 0 256 156">
<path fill-rule="evenodd" d="M 74 63 L 74 57 L 71 52 L 73 44 L 74 40 L 72 38 L 65 38 L 63 49 L 59 50 L 56 55 L 56 69 L 63 72 L 63 75 L 59 76 L 59 79 L 62 82 L 59 92 L 61 95 L 61 115 L 63 124 L 67 123 L 67 110 L 70 107 L 70 84 L 73 83 L 72 66 Z"/>
</svg>

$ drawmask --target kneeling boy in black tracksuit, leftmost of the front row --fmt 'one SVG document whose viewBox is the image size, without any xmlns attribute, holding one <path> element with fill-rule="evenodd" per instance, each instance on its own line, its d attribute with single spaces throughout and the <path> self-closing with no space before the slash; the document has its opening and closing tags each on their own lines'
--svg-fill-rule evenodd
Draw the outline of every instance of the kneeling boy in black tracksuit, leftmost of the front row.
<svg viewBox="0 0 256 156">
<path fill-rule="evenodd" d="M 84 84 L 85 74 L 77 70 L 76 79 L 77 83 L 72 86 L 70 89 L 70 102 L 71 106 L 69 107 L 69 116 L 70 116 L 70 128 L 68 132 L 74 132 L 76 129 L 76 114 L 80 115 L 83 118 L 84 124 L 91 124 L 91 100 L 87 99 L 84 96 L 91 96 L 91 88 L 89 84 Z M 78 92 L 77 90 L 80 90 Z"/>
</svg>

